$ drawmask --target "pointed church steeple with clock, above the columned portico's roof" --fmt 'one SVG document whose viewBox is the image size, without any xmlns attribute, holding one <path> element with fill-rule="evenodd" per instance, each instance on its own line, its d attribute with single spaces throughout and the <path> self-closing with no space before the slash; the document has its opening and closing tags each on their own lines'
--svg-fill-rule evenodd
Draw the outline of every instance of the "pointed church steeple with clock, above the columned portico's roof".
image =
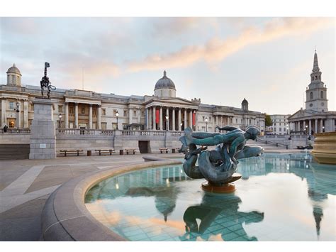
<svg viewBox="0 0 336 252">
<path fill-rule="evenodd" d="M 318 67 L 318 54 L 315 50 L 310 84 L 306 89 L 306 109 L 318 112 L 327 111 L 327 86 L 321 80 L 322 72 Z"/>
</svg>

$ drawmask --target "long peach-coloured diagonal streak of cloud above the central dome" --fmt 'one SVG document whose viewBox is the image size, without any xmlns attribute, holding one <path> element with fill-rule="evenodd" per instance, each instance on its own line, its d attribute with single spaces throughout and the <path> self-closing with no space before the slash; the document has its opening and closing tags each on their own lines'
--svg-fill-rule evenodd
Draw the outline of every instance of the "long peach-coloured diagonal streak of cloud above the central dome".
<svg viewBox="0 0 336 252">
<path fill-rule="evenodd" d="M 333 23 L 333 18 L 272 18 L 264 24 L 264 28 L 250 26 L 244 28 L 239 35 L 225 39 L 211 38 L 205 45 L 188 45 L 173 53 L 149 55 L 143 60 L 133 60 L 126 64 L 130 72 L 187 67 L 201 60 L 210 64 L 219 62 L 248 45 L 266 43 L 289 35 L 309 34 Z"/>
</svg>

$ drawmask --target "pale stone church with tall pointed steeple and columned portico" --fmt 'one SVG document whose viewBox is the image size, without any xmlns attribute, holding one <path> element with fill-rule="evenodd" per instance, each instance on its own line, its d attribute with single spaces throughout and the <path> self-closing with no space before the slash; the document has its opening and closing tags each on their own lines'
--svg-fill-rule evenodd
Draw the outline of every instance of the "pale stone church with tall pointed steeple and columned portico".
<svg viewBox="0 0 336 252">
<path fill-rule="evenodd" d="M 328 111 L 327 85 L 322 82 L 322 72 L 318 67 L 315 50 L 310 84 L 306 89 L 306 108 L 301 108 L 288 121 L 293 133 L 320 133 L 335 131 L 336 111 Z"/>
</svg>

